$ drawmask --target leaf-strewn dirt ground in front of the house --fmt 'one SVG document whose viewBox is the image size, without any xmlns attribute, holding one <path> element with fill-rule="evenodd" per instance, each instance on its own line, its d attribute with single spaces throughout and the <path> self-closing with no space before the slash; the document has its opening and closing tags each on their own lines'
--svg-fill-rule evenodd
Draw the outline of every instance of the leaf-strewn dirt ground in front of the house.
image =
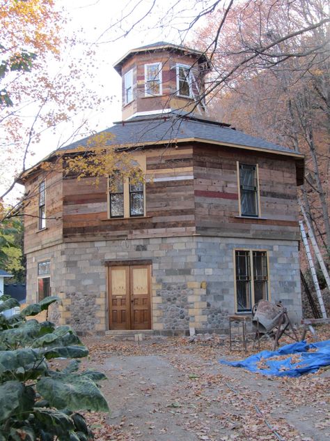
<svg viewBox="0 0 330 441">
<path fill-rule="evenodd" d="M 322 329 L 320 339 L 329 334 Z M 228 338 L 215 335 L 84 343 L 84 364 L 108 378 L 102 392 L 111 413 L 86 415 L 95 440 L 330 440 L 327 369 L 276 378 L 225 366 L 218 360 L 251 352 L 230 352 Z"/>
</svg>

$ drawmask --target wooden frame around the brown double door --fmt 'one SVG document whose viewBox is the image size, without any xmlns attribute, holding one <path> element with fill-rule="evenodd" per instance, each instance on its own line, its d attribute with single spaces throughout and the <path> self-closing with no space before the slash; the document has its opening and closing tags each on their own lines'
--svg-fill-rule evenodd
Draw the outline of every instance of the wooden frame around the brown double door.
<svg viewBox="0 0 330 441">
<path fill-rule="evenodd" d="M 110 282 L 111 282 L 111 277 L 109 277 L 109 271 L 110 268 L 109 267 L 135 267 L 135 266 L 148 266 L 149 267 L 149 272 L 148 272 L 148 287 L 149 287 L 149 292 L 150 292 L 150 329 L 152 329 L 152 260 L 148 259 L 148 260 L 106 260 L 104 262 L 104 265 L 106 267 L 106 276 L 107 276 L 107 329 L 111 330 L 111 298 L 110 298 L 110 293 L 111 293 L 111 287 L 110 287 Z M 131 279 L 131 271 L 129 270 L 129 281 Z M 132 328 L 132 311 L 131 311 L 131 303 L 130 303 L 130 298 L 129 298 L 129 329 L 125 329 L 125 330 L 130 330 Z"/>
</svg>

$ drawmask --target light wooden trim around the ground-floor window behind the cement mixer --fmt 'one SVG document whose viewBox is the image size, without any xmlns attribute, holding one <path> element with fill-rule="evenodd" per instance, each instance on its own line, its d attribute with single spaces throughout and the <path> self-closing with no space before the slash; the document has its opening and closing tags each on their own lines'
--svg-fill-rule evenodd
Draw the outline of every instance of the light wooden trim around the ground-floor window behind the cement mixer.
<svg viewBox="0 0 330 441">
<path fill-rule="evenodd" d="M 236 278 L 236 252 L 237 251 L 248 251 L 249 252 L 249 264 L 250 264 L 250 295 L 251 295 L 251 311 L 238 311 L 237 308 L 237 278 Z M 253 252 L 257 251 L 260 253 L 266 253 L 266 262 L 267 262 L 267 300 L 272 301 L 272 292 L 270 290 L 271 285 L 271 277 L 269 271 L 269 250 L 265 248 L 234 248 L 233 249 L 233 262 L 234 262 L 234 302 L 235 302 L 235 313 L 236 314 L 251 314 L 252 308 L 255 304 L 255 296 L 254 296 L 254 276 L 253 276 Z"/>
</svg>

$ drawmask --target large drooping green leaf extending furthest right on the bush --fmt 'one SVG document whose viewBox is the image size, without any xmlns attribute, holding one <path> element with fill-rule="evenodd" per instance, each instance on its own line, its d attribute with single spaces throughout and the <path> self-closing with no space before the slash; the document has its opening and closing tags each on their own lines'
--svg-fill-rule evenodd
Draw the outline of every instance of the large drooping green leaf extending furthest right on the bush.
<svg viewBox="0 0 330 441">
<path fill-rule="evenodd" d="M 40 378 L 37 390 L 54 408 L 109 411 L 107 401 L 95 382 L 83 375 L 58 373 L 52 378 Z"/>
</svg>

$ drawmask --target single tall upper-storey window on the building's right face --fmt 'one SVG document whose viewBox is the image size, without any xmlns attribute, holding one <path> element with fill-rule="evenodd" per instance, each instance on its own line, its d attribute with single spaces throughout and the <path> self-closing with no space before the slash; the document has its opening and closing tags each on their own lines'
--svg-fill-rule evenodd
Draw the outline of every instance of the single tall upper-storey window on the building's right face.
<svg viewBox="0 0 330 441">
<path fill-rule="evenodd" d="M 239 200 L 241 216 L 259 216 L 257 165 L 239 164 Z"/>
</svg>

